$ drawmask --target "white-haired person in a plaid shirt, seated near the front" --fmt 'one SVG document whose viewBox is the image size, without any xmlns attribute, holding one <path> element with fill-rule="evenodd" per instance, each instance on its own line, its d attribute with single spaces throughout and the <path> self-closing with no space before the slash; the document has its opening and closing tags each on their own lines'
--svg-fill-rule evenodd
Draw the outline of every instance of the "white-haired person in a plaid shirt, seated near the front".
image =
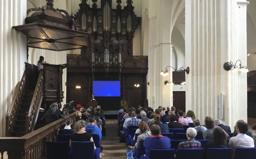
<svg viewBox="0 0 256 159">
<path fill-rule="evenodd" d="M 178 156 L 179 149 L 193 149 L 193 148 L 201 148 L 201 143 L 199 141 L 194 140 L 197 133 L 196 130 L 192 127 L 187 129 L 187 138 L 188 140 L 182 141 L 178 145 L 178 149 L 176 151 L 176 156 Z"/>
</svg>

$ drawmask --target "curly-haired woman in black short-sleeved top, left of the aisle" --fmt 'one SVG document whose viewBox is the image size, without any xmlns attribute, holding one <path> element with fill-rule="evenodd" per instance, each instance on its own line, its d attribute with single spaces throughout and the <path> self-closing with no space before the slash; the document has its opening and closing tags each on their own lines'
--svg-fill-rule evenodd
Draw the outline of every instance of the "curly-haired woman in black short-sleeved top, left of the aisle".
<svg viewBox="0 0 256 159">
<path fill-rule="evenodd" d="M 85 131 L 86 129 L 86 122 L 84 120 L 79 120 L 74 125 L 74 134 L 71 135 L 70 141 L 69 141 L 69 147 L 72 148 L 72 141 L 92 141 L 92 135 L 89 132 Z M 96 149 L 94 144 L 94 150 Z M 103 156 L 104 153 L 100 153 L 100 157 Z"/>
</svg>

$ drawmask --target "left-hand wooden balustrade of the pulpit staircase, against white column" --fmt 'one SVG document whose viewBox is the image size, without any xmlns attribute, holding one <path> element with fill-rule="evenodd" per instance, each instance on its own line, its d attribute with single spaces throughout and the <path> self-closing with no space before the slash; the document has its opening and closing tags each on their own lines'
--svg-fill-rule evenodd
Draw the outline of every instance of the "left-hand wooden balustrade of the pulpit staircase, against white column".
<svg viewBox="0 0 256 159">
<path fill-rule="evenodd" d="M 21 102 L 21 96 L 22 96 L 22 93 L 25 90 L 25 88 L 26 88 L 26 71 L 24 71 L 20 82 L 18 82 L 18 84 L 17 84 L 17 88 L 13 95 L 13 100 L 12 100 L 11 106 L 6 114 L 6 126 L 5 126 L 5 136 L 6 137 L 9 136 L 9 132 L 12 129 L 14 118 L 17 113 L 17 106 Z"/>
</svg>

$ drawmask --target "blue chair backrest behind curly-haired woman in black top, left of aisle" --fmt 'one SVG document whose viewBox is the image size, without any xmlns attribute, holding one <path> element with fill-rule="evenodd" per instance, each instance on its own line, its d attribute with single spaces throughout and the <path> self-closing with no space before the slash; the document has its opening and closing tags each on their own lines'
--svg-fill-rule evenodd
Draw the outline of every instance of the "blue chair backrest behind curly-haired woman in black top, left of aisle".
<svg viewBox="0 0 256 159">
<path fill-rule="evenodd" d="M 92 141 L 72 141 L 72 157 L 81 158 L 81 156 L 86 156 L 87 159 L 94 159 L 94 144 Z"/>
</svg>

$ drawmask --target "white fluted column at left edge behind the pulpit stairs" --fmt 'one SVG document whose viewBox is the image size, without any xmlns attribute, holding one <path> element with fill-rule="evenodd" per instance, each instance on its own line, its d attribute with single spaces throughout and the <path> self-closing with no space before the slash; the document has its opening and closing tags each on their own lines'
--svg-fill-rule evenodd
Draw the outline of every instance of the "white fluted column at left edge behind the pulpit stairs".
<svg viewBox="0 0 256 159">
<path fill-rule="evenodd" d="M 26 0 L 0 0 L 0 136 L 5 136 L 5 117 L 27 61 L 26 37 L 12 26 L 26 18 Z"/>
</svg>

